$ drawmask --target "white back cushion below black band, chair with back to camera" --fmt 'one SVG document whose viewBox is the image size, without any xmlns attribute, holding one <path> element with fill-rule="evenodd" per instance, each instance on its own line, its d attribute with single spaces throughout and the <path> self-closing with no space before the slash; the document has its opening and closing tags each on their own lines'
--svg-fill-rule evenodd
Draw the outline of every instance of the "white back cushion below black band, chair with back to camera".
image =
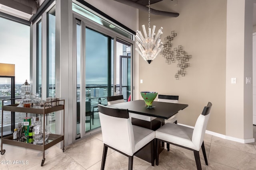
<svg viewBox="0 0 256 170">
<path fill-rule="evenodd" d="M 130 156 L 134 154 L 134 134 L 131 119 L 112 117 L 100 113 L 103 142 Z"/>
</svg>

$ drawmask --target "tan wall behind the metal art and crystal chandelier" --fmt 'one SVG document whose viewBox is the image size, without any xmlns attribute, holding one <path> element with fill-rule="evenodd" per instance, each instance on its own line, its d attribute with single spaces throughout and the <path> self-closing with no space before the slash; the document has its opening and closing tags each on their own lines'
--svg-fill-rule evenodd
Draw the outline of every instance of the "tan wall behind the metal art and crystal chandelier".
<svg viewBox="0 0 256 170">
<path fill-rule="evenodd" d="M 151 7 L 180 13 L 178 18 L 151 15 L 150 23 L 156 25 L 157 30 L 163 27 L 162 41 L 174 30 L 177 37 L 172 41 L 173 47 L 183 45 L 192 59 L 186 76 L 176 80 L 177 63 L 167 64 L 164 57 L 158 55 L 148 64 L 140 57 L 138 79 L 142 79 L 143 84 L 139 84 L 139 90 L 179 95 L 180 103 L 189 107 L 179 112 L 178 123 L 191 126 L 207 102 L 212 102 L 207 130 L 225 135 L 226 1 L 182 0 L 174 6 L 163 0 Z M 148 26 L 148 15 L 140 12 L 139 25 L 143 24 Z"/>
</svg>

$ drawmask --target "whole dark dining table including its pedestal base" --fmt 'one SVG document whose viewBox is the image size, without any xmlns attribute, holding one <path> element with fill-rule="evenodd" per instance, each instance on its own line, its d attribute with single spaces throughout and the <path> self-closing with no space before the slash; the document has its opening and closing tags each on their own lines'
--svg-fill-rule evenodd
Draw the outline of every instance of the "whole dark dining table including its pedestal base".
<svg viewBox="0 0 256 170">
<path fill-rule="evenodd" d="M 130 102 L 122 102 L 118 104 L 108 105 L 109 107 L 128 109 L 129 116 L 132 120 L 132 125 L 152 129 L 156 131 L 162 125 L 164 120 L 169 119 L 173 115 L 177 114 L 178 111 L 188 107 L 188 104 L 180 103 L 168 103 L 168 102 L 156 102 L 152 103 L 153 108 L 146 108 L 144 100 L 134 100 Z M 160 152 L 164 149 L 164 145 L 160 143 L 156 144 Z M 159 152 L 159 153 L 160 153 Z M 135 156 L 151 162 L 150 146 L 144 147 Z M 154 155 L 154 158 L 156 155 Z"/>
</svg>

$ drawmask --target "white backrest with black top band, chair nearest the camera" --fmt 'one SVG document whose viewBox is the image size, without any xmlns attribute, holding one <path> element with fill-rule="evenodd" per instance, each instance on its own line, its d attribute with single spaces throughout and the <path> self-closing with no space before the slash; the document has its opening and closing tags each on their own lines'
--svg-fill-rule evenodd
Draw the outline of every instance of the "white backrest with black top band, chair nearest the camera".
<svg viewBox="0 0 256 170">
<path fill-rule="evenodd" d="M 132 122 L 128 109 L 98 104 L 103 143 L 130 156 L 135 150 Z"/>
</svg>

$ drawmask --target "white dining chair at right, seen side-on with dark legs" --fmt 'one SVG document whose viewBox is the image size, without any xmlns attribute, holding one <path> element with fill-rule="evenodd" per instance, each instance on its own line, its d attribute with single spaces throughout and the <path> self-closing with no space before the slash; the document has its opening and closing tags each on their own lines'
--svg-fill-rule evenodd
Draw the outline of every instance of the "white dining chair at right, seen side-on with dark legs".
<svg viewBox="0 0 256 170">
<path fill-rule="evenodd" d="M 164 141 L 185 149 L 193 150 L 196 160 L 196 167 L 201 170 L 199 150 L 202 148 L 205 164 L 208 165 L 204 148 L 204 134 L 210 117 L 212 103 L 208 102 L 202 114 L 198 116 L 194 129 L 174 123 L 166 123 L 156 130 L 156 143 Z M 156 147 L 156 165 L 159 163 L 158 147 Z"/>
</svg>

